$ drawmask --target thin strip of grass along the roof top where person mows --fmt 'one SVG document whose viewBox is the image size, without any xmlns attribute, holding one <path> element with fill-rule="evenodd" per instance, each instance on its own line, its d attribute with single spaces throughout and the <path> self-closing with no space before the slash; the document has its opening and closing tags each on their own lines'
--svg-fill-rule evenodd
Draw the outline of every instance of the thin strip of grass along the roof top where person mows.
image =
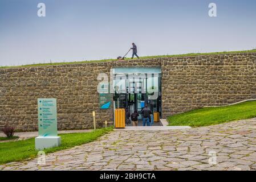
<svg viewBox="0 0 256 182">
<path fill-rule="evenodd" d="M 218 55 L 223 53 L 247 53 L 247 52 L 256 52 L 256 49 L 247 50 L 247 51 L 223 51 L 223 52 L 209 52 L 209 53 L 186 53 L 181 55 L 159 55 L 159 56 L 143 56 L 140 59 L 153 59 L 159 57 L 182 57 L 182 56 L 200 56 L 200 55 Z M 129 60 L 130 58 L 126 58 Z M 22 67 L 41 67 L 48 65 L 63 65 L 63 64 L 82 64 L 82 63 L 100 63 L 115 61 L 116 59 L 103 59 L 103 60 L 85 60 L 85 61 L 71 61 L 71 62 L 62 62 L 62 63 L 39 63 L 39 64 L 27 64 L 27 65 L 18 65 L 18 66 L 2 66 L 0 68 L 22 68 Z"/>
</svg>

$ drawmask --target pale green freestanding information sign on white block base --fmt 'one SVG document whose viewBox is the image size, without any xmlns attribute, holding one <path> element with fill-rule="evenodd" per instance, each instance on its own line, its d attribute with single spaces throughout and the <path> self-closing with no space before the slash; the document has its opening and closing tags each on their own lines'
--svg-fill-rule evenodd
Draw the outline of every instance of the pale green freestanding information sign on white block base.
<svg viewBox="0 0 256 182">
<path fill-rule="evenodd" d="M 56 98 L 38 98 L 38 137 L 35 138 L 35 149 L 57 147 L 60 143 Z"/>
</svg>

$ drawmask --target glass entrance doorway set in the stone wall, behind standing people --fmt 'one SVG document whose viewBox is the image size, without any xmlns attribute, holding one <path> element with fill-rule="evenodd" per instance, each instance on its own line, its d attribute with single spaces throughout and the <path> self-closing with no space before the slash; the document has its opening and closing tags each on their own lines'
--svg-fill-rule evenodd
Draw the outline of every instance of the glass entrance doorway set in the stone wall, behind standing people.
<svg viewBox="0 0 256 182">
<path fill-rule="evenodd" d="M 161 68 L 115 68 L 113 87 L 114 109 L 128 108 L 130 113 L 137 110 L 139 126 L 142 126 L 141 110 L 145 105 L 152 113 L 160 113 L 161 118 Z"/>
</svg>

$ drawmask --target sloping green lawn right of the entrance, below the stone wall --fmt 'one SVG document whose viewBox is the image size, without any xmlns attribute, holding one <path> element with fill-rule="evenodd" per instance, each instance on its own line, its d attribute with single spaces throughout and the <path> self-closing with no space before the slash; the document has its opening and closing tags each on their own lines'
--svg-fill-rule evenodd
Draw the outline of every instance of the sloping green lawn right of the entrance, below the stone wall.
<svg viewBox="0 0 256 182">
<path fill-rule="evenodd" d="M 204 107 L 167 118 L 169 126 L 209 126 L 256 117 L 256 101 L 224 107 Z"/>
</svg>

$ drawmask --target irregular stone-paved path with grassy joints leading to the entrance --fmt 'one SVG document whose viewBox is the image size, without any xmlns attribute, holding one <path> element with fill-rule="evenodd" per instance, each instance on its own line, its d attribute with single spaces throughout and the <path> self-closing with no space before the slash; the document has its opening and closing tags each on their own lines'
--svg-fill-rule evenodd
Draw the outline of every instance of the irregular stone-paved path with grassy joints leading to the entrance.
<svg viewBox="0 0 256 182">
<path fill-rule="evenodd" d="M 209 164 L 209 151 L 217 164 Z M 256 119 L 185 130 L 113 131 L 99 140 L 3 170 L 255 170 Z"/>
</svg>

